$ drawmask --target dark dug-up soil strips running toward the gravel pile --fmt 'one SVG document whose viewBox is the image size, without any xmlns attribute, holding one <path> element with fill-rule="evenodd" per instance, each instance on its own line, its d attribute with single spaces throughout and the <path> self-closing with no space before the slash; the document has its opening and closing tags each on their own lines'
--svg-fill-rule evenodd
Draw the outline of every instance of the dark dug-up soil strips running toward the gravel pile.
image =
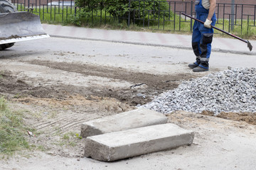
<svg viewBox="0 0 256 170">
<path fill-rule="evenodd" d="M 0 92 L 2 94 L 11 94 L 22 97 L 34 98 L 58 98 L 65 99 L 68 96 L 80 95 L 85 98 L 92 96 L 116 98 L 129 106 L 143 105 L 151 99 L 169 89 L 175 89 L 182 80 L 194 78 L 193 74 L 177 75 L 157 75 L 141 72 L 127 72 L 125 69 L 92 66 L 90 64 L 74 64 L 65 62 L 48 62 L 33 60 L 29 64 L 36 64 L 51 69 L 63 70 L 65 72 L 75 72 L 83 76 L 102 77 L 112 79 L 113 81 L 127 81 L 132 86 L 124 88 L 112 88 L 101 84 L 101 86 L 75 86 L 75 85 L 51 85 L 40 86 L 27 84 L 26 80 L 20 79 L 11 72 L 2 72 L 2 81 L 0 82 Z M 33 80 L 36 83 L 36 79 Z M 68 80 L 67 80 L 68 81 Z"/>
</svg>

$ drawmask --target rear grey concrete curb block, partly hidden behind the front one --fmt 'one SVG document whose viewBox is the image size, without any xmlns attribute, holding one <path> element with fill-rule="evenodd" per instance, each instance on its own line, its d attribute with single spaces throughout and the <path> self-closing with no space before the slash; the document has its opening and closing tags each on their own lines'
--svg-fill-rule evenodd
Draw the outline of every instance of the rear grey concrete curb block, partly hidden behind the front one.
<svg viewBox="0 0 256 170">
<path fill-rule="evenodd" d="M 89 137 L 107 132 L 117 132 L 132 128 L 167 123 L 167 118 L 162 113 L 146 108 L 119 113 L 96 120 L 91 120 L 81 125 L 81 136 Z"/>
</svg>

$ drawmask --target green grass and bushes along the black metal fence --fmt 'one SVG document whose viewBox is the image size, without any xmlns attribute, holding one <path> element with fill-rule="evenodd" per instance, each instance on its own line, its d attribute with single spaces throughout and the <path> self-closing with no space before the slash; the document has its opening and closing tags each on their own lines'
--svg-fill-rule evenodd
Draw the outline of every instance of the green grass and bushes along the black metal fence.
<svg viewBox="0 0 256 170">
<path fill-rule="evenodd" d="M 40 16 L 41 21 L 45 23 L 88 28 L 191 33 L 190 19 L 185 19 L 183 16 L 170 11 L 166 0 L 134 0 L 131 1 L 131 4 L 125 0 L 77 0 L 75 7 L 48 5 L 34 8 L 33 13 Z M 18 10 L 23 8 L 24 6 L 18 5 Z M 219 18 L 216 27 L 240 35 L 242 38 L 256 38 L 256 26 L 253 17 L 248 20 L 235 21 L 233 30 L 230 29 L 228 19 Z M 215 33 L 225 36 L 218 30 Z"/>
</svg>

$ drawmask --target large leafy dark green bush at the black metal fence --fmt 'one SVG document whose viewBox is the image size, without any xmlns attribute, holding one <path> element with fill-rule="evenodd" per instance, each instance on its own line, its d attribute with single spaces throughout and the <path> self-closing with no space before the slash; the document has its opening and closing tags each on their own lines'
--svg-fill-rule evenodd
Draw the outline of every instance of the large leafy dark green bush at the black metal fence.
<svg viewBox="0 0 256 170">
<path fill-rule="evenodd" d="M 73 23 L 80 25 L 85 18 L 90 18 L 97 11 L 105 11 L 114 17 L 115 20 L 128 21 L 138 18 L 161 19 L 170 16 L 169 4 L 166 0 L 77 0 L 75 5 L 80 7 L 80 11 L 73 18 Z M 139 24 L 138 20 L 134 23 Z"/>
</svg>

